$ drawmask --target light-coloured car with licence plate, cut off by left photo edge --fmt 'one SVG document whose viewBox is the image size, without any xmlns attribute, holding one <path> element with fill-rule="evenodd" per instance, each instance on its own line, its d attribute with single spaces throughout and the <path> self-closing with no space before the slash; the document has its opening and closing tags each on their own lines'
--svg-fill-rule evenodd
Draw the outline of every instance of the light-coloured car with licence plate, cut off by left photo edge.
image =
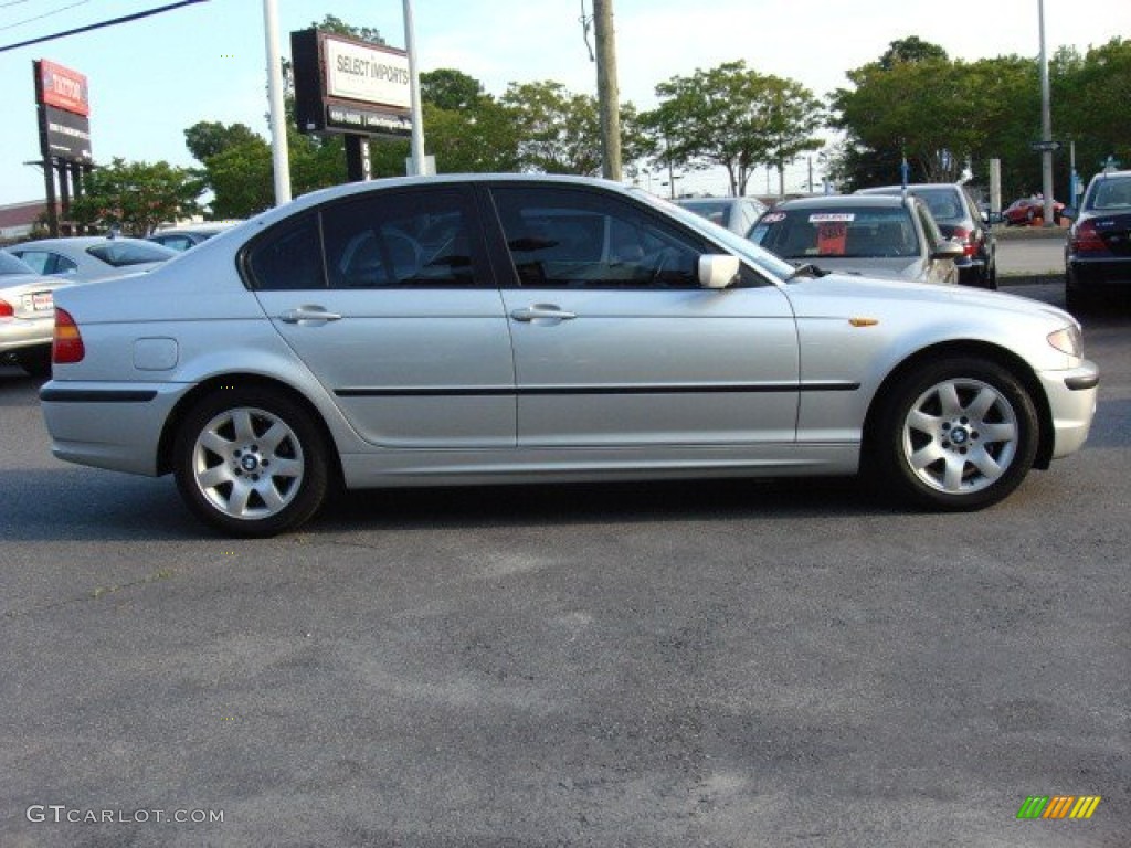
<svg viewBox="0 0 1131 848">
<path fill-rule="evenodd" d="M 15 362 L 33 377 L 51 373 L 53 294 L 67 285 L 0 250 L 0 362 Z"/>
</svg>

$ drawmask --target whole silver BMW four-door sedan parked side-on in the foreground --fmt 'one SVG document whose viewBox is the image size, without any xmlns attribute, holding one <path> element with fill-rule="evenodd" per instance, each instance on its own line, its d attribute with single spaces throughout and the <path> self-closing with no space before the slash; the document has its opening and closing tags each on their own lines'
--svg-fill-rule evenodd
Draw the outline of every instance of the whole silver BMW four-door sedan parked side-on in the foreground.
<svg viewBox="0 0 1131 848">
<path fill-rule="evenodd" d="M 222 530 L 348 488 L 853 475 L 974 510 L 1078 450 L 1044 303 L 795 268 L 645 191 L 450 175 L 307 194 L 58 293 L 53 453 L 172 473 Z"/>
</svg>

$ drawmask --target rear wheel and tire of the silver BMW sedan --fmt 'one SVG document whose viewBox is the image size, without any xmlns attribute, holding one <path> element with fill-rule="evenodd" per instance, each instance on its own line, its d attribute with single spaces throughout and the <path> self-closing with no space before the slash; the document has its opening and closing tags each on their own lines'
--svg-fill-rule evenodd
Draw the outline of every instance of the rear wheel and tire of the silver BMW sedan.
<svg viewBox="0 0 1131 848">
<path fill-rule="evenodd" d="M 266 537 L 313 516 L 329 481 L 311 415 L 267 388 L 219 391 L 184 417 L 173 473 L 189 509 L 232 536 Z"/>
</svg>

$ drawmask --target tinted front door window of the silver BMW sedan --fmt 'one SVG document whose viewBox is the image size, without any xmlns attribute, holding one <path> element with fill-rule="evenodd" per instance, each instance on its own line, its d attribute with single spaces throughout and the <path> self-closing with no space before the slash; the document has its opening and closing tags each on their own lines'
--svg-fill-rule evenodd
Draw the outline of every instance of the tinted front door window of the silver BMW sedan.
<svg viewBox="0 0 1131 848">
<path fill-rule="evenodd" d="M 566 189 L 497 188 L 520 285 L 696 288 L 701 245 L 628 202 Z"/>
</svg>

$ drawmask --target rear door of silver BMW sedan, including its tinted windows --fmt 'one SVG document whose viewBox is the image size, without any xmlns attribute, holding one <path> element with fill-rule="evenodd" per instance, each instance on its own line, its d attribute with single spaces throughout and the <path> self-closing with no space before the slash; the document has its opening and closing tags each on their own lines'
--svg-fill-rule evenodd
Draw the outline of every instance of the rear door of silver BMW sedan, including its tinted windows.
<svg viewBox="0 0 1131 848">
<path fill-rule="evenodd" d="M 265 312 L 374 444 L 515 444 L 508 322 L 469 209 L 452 189 L 364 194 L 252 249 Z"/>
</svg>

